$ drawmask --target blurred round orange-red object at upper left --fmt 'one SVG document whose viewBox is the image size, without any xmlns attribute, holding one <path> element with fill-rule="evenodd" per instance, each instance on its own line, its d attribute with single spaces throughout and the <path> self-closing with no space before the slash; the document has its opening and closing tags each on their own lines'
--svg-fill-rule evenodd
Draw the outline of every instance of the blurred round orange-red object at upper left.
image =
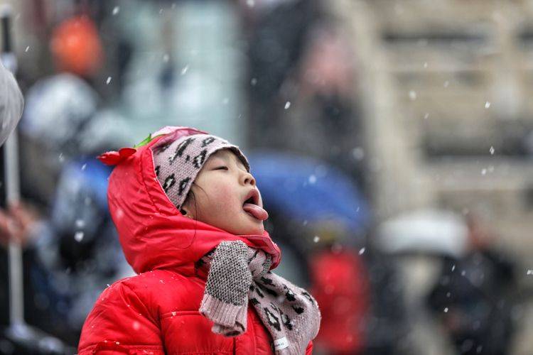
<svg viewBox="0 0 533 355">
<path fill-rule="evenodd" d="M 60 23 L 53 31 L 50 50 L 59 70 L 88 77 L 102 66 L 102 43 L 95 23 L 87 16 Z"/>
</svg>

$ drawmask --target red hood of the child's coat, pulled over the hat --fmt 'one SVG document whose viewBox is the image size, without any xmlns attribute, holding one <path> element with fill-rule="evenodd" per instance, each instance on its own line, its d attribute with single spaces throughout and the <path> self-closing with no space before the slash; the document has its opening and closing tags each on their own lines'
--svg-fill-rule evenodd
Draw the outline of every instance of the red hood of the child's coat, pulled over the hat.
<svg viewBox="0 0 533 355">
<path fill-rule="evenodd" d="M 160 132 L 166 134 L 136 150 L 104 154 L 112 157 L 109 160 L 112 164 L 117 164 L 109 177 L 109 210 L 126 260 L 134 271 L 178 269 L 185 275 L 194 275 L 195 261 L 221 241 L 237 240 L 271 254 L 271 268 L 275 268 L 281 252 L 266 231 L 262 236 L 237 236 L 178 212 L 156 178 L 151 147 L 161 138 L 176 139 L 205 132 L 186 127 L 166 127 Z"/>
</svg>

